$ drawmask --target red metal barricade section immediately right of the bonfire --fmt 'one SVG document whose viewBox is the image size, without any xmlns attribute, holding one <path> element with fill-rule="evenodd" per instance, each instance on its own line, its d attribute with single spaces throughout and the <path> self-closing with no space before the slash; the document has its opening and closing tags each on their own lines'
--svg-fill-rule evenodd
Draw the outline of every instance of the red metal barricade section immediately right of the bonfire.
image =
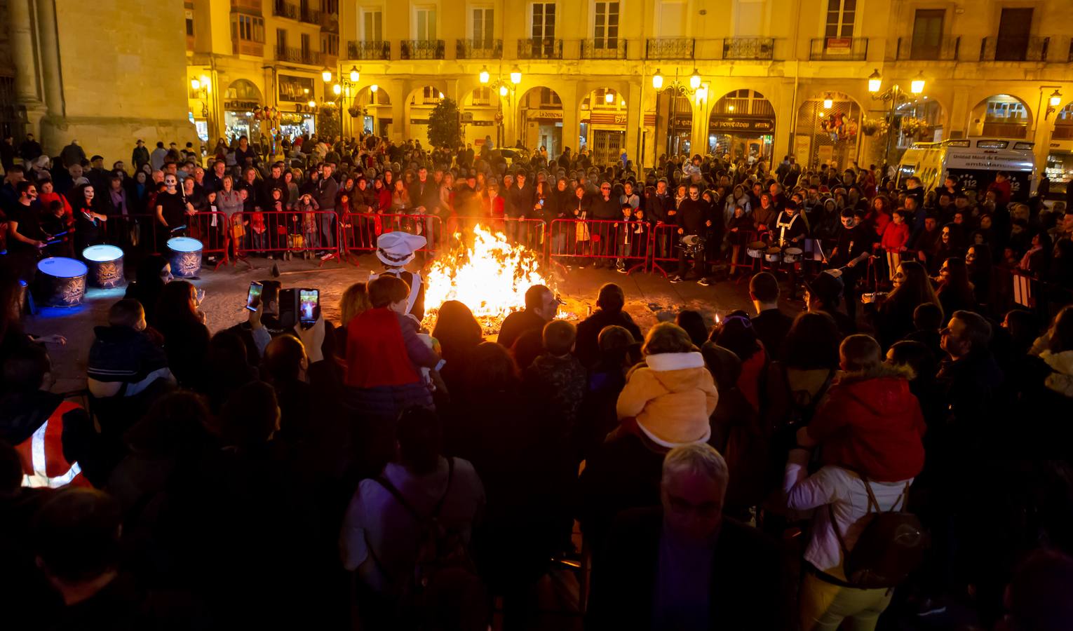
<svg viewBox="0 0 1073 631">
<path fill-rule="evenodd" d="M 650 232 L 645 221 L 555 219 L 547 238 L 548 261 L 559 266 L 602 262 L 632 274 L 647 265 Z"/>
</svg>

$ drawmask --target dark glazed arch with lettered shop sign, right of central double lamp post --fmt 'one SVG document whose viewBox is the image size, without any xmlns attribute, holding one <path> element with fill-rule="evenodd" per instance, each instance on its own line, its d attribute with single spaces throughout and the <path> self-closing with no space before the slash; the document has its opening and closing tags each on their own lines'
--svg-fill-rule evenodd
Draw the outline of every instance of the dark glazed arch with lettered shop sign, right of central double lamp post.
<svg viewBox="0 0 1073 631">
<path fill-rule="evenodd" d="M 763 94 L 743 89 L 716 101 L 708 118 L 708 153 L 770 165 L 774 143 L 775 106 Z"/>
</svg>

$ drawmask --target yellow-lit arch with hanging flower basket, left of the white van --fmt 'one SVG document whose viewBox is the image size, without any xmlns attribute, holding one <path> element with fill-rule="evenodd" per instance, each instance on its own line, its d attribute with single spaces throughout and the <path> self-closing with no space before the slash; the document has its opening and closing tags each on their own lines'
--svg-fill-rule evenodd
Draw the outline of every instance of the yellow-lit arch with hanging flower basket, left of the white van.
<svg viewBox="0 0 1073 631">
<path fill-rule="evenodd" d="M 842 92 L 808 99 L 797 109 L 794 157 L 805 166 L 827 164 L 844 170 L 856 160 L 861 106 Z"/>
</svg>

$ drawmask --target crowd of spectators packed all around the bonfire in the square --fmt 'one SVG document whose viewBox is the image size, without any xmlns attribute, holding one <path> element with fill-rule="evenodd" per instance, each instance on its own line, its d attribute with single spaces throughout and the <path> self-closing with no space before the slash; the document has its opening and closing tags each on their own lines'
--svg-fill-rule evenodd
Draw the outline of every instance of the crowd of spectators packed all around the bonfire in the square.
<svg viewBox="0 0 1073 631">
<path fill-rule="evenodd" d="M 398 188 L 416 186 L 436 215 L 495 201 L 506 175 L 490 150 L 485 166 L 465 149 L 425 164 L 416 144 L 363 141 L 328 147 L 310 179 L 352 190 L 359 173 L 353 186 L 368 190 L 369 171 L 394 179 L 399 149 L 416 168 Z M 229 167 L 223 150 L 214 174 Z M 135 149 L 137 173 L 142 159 L 157 172 L 153 153 Z M 294 175 L 279 161 L 262 173 L 250 153 L 254 199 L 259 177 Z M 180 177 L 214 181 L 174 158 L 161 158 L 163 194 Z M 616 284 L 576 326 L 535 285 L 491 341 L 457 302 L 423 329 L 393 274 L 348 288 L 339 321 L 310 324 L 288 319 L 293 292 L 266 279 L 247 321 L 221 327 L 202 292 L 147 254 L 93 329 L 83 407 L 52 392 L 48 348 L 62 340 L 24 325 L 19 252 L 38 244 L 19 238 L 33 240 L 27 210 L 9 214 L 0 590 L 20 604 L 12 628 L 483 630 L 495 610 L 520 629 L 538 618 L 536 585 L 562 568 L 578 568 L 591 629 L 1073 626 L 1073 307 L 1056 293 L 1048 312 L 1004 309 L 980 274 L 1006 248 L 1030 274 L 1060 273 L 1069 259 L 1041 245 L 1068 243 L 1060 208 L 1026 205 L 1021 218 L 1001 179 L 967 207 L 968 193 L 789 160 L 769 173 L 694 158 L 680 178 L 668 160 L 638 195 L 629 163 L 590 178 L 579 159 L 534 152 L 512 165 L 503 199 L 533 171 L 541 190 L 599 185 L 575 189 L 596 204 L 630 186 L 621 206 L 704 233 L 715 258 L 739 254 L 735 226 L 774 244 L 819 237 L 834 218 L 829 268 L 795 270 L 795 317 L 760 272 L 751 311 L 686 310 L 648 331 Z M 127 190 L 117 172 L 105 175 Z M 23 177 L 17 204 L 52 184 Z M 76 179 L 85 196 L 92 185 Z M 542 211 L 518 199 L 505 217 Z M 917 248 L 939 221 L 940 249 Z M 858 266 L 878 276 L 863 295 Z"/>
</svg>

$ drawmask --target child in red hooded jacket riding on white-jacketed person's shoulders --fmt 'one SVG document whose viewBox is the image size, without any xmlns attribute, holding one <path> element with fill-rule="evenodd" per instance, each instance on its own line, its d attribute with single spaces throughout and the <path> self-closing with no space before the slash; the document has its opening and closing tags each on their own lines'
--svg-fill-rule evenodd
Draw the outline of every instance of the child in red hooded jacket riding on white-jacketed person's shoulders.
<svg viewBox="0 0 1073 631">
<path fill-rule="evenodd" d="M 838 350 L 844 371 L 807 427 L 803 447 L 821 445 L 824 465 L 851 469 L 876 482 L 915 478 L 924 468 L 924 414 L 905 367 L 882 362 L 879 342 L 847 337 Z"/>
</svg>

